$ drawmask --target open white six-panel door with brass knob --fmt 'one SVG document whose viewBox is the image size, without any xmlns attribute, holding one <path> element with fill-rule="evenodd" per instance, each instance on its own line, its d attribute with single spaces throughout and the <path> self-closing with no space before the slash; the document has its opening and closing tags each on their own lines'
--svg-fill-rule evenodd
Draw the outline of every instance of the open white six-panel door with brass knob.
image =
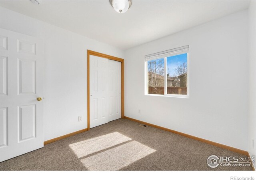
<svg viewBox="0 0 256 180">
<path fill-rule="evenodd" d="M 43 59 L 36 38 L 0 29 L 0 162 L 42 148 Z"/>
</svg>

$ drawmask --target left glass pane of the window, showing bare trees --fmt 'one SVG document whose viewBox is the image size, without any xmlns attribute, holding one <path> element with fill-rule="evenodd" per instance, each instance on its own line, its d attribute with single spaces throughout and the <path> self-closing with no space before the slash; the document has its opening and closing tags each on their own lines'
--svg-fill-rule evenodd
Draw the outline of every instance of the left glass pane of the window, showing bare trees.
<svg viewBox="0 0 256 180">
<path fill-rule="evenodd" d="M 148 94 L 164 94 L 164 58 L 148 61 Z"/>
</svg>

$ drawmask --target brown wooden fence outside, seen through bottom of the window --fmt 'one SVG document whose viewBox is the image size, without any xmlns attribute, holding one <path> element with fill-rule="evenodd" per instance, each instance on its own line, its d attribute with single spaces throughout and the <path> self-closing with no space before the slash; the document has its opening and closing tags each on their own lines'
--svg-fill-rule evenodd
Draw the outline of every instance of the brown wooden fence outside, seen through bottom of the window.
<svg viewBox="0 0 256 180">
<path fill-rule="evenodd" d="M 148 87 L 148 94 L 164 94 L 164 87 Z M 187 94 L 186 87 L 167 87 L 167 94 Z"/>
</svg>

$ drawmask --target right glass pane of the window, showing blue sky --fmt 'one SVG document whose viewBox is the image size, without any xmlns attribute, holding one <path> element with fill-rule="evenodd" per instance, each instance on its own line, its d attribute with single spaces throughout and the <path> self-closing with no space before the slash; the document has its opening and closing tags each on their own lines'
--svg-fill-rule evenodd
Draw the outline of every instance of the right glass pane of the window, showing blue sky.
<svg viewBox="0 0 256 180">
<path fill-rule="evenodd" d="M 187 53 L 167 57 L 167 94 L 187 95 Z"/>
</svg>

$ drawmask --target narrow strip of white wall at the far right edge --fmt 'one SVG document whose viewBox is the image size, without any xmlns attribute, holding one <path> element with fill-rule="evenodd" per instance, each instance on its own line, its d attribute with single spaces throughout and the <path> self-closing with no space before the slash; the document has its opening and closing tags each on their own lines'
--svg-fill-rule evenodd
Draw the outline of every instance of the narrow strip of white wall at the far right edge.
<svg viewBox="0 0 256 180">
<path fill-rule="evenodd" d="M 249 67 L 248 144 L 250 155 L 256 155 L 256 1 L 251 1 L 249 7 Z"/>
</svg>

